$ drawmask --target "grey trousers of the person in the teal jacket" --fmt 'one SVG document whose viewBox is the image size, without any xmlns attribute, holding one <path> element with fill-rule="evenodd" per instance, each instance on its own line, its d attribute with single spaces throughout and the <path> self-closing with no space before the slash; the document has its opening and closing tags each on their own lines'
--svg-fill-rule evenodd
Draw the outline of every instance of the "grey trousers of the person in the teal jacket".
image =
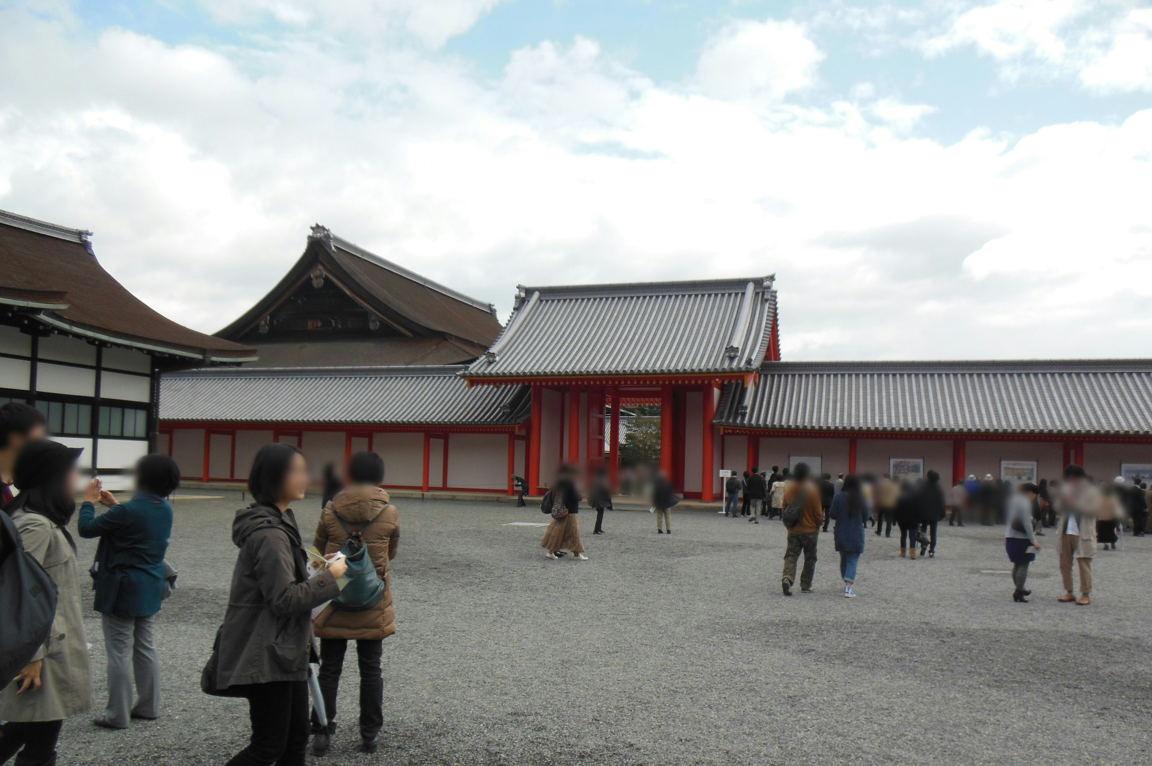
<svg viewBox="0 0 1152 766">
<path fill-rule="evenodd" d="M 104 627 L 104 651 L 108 655 L 108 707 L 104 711 L 108 723 L 127 727 L 131 715 L 159 718 L 160 658 L 152 635 L 156 615 L 118 617 L 103 614 L 100 622 Z"/>
</svg>

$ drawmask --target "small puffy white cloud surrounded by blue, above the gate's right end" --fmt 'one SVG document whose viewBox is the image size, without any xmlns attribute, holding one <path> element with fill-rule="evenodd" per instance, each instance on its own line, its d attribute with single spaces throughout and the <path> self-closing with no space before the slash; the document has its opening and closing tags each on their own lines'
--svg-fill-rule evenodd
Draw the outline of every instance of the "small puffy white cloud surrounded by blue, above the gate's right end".
<svg viewBox="0 0 1152 766">
<path fill-rule="evenodd" d="M 737 21 L 704 46 L 696 81 L 717 98 L 778 101 L 810 86 L 823 60 L 796 22 Z"/>
</svg>

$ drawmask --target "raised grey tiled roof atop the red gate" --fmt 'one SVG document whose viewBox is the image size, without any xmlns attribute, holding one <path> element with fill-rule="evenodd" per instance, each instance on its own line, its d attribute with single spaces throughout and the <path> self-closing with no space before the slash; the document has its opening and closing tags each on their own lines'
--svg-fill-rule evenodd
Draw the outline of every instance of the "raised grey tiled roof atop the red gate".
<svg viewBox="0 0 1152 766">
<path fill-rule="evenodd" d="M 755 372 L 776 312 L 772 276 L 520 287 L 471 379 Z"/>
</svg>

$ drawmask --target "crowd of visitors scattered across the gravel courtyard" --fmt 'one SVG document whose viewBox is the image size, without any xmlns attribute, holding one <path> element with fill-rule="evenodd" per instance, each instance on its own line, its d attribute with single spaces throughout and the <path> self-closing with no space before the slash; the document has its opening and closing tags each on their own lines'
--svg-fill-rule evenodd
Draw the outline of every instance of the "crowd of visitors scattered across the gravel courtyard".
<svg viewBox="0 0 1152 766">
<path fill-rule="evenodd" d="M 73 517 L 81 537 L 99 539 L 89 574 L 107 655 L 107 703 L 92 719 L 96 726 L 127 729 L 134 719 L 161 715 L 156 624 L 176 577 L 166 561 L 173 529 L 168 498 L 180 485 L 175 462 L 165 455 L 141 458 L 135 493 L 120 502 L 99 479 L 81 479 L 81 449 L 46 437 L 44 416 L 35 408 L 0 407 L 0 587 L 15 586 L 13 572 L 23 572 L 20 583 L 39 576 L 50 584 L 5 591 L 10 601 L 5 605 L 9 629 L 0 632 L 7 642 L 0 663 L 0 764 L 16 756 L 18 766 L 54 764 L 62 722 L 93 705 Z M 233 521 L 236 563 L 200 680 L 209 695 L 248 700 L 250 741 L 229 766 L 302 765 L 310 737 L 314 753 L 328 749 L 350 640 L 359 672 L 362 746 L 373 752 L 379 744 L 382 640 L 395 632 L 391 562 L 400 541 L 399 511 L 380 487 L 385 465 L 379 455 L 357 453 L 343 476 L 325 473 L 311 548 L 290 508 L 304 499 L 310 472 L 290 445 L 266 445 L 257 453 L 248 481 L 253 502 Z M 540 543 L 550 559 L 588 560 L 578 522 L 582 501 L 597 511 L 593 534 L 605 533 L 604 515 L 613 507 L 607 472 L 598 471 L 586 493 L 581 486 L 577 470 L 563 467 L 540 502 L 551 516 Z M 83 496 L 78 515 L 77 493 Z M 797 584 L 801 593 L 812 591 L 820 536 L 829 525 L 843 596 L 856 598 L 870 528 L 874 536 L 890 537 L 895 525 L 901 556 L 931 559 L 938 525 L 947 518 L 949 525 L 962 526 L 965 519 L 1005 525 L 1017 602 L 1031 594 L 1028 571 L 1041 547 L 1038 538 L 1055 529 L 1064 589 L 1059 601 L 1079 605 L 1091 602 L 1092 559 L 1100 544 L 1115 549 L 1128 524 L 1132 534 L 1143 536 L 1152 500 L 1143 483 L 1096 481 L 1078 465 L 1069 465 L 1060 481 L 969 476 L 946 492 L 935 471 L 918 480 L 833 478 L 798 463 L 728 477 L 725 493 L 725 517 L 757 524 L 779 518 L 786 528 L 780 581 L 786 597 Z M 657 533 L 672 534 L 672 509 L 680 498 L 658 471 L 651 500 Z"/>
</svg>

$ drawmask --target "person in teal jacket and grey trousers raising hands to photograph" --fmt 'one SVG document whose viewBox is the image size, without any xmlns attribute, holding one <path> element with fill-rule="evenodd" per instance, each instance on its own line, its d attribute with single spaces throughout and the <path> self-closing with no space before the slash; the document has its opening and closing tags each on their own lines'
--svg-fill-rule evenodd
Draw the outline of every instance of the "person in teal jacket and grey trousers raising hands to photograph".
<svg viewBox="0 0 1152 766">
<path fill-rule="evenodd" d="M 124 503 L 101 488 L 98 501 L 111 510 L 99 516 L 85 498 L 76 523 L 81 537 L 100 539 L 93 607 L 100 613 L 108 655 L 108 705 L 93 723 L 106 729 L 127 729 L 134 718 L 160 718 L 156 615 L 164 599 L 164 556 L 172 536 L 167 498 L 180 486 L 180 467 L 167 455 L 145 455 L 136 461 L 135 484 L 136 493 Z"/>
</svg>

